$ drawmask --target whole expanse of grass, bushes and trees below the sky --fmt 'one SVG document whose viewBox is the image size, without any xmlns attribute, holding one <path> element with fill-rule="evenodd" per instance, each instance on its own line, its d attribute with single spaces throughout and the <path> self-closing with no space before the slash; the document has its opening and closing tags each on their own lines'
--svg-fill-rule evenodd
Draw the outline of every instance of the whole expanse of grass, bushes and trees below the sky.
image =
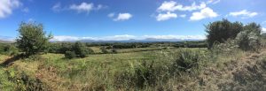
<svg viewBox="0 0 266 91">
<path fill-rule="evenodd" d="M 49 38 L 43 32 L 39 35 L 43 36 L 40 39 Z M 26 33 L 24 36 L 27 39 Z M 261 27 L 255 23 L 243 26 L 226 19 L 210 23 L 206 42 L 52 42 L 46 45 L 47 40 L 43 40 L 36 44 L 45 42 L 45 46 L 37 46 L 40 48 L 35 51 L 18 51 L 17 43 L 1 43 L 1 90 L 266 89 L 266 52 L 262 46 L 265 41 Z M 18 54 L 34 55 L 45 52 L 44 49 L 48 53 L 36 58 L 21 59 L 5 54 L 17 50 Z"/>
</svg>

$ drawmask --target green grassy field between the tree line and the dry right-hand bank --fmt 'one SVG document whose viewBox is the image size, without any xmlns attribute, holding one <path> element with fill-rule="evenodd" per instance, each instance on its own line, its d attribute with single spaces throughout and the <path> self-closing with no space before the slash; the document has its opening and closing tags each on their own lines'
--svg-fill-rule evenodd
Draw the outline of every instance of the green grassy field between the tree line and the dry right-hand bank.
<svg viewBox="0 0 266 91">
<path fill-rule="evenodd" d="M 43 87 L 47 86 L 47 88 L 56 91 L 206 90 L 208 88 L 215 90 L 215 87 L 217 87 L 215 80 L 223 82 L 223 80 L 231 81 L 231 79 L 226 77 L 227 75 L 220 79 L 204 77 L 206 75 L 204 73 L 208 69 L 215 68 L 214 71 L 223 72 L 224 68 L 228 68 L 226 64 L 231 63 L 231 60 L 239 60 L 253 54 L 238 49 L 231 53 L 220 54 L 214 54 L 207 49 L 185 48 L 140 52 L 132 52 L 134 49 L 125 50 L 131 52 L 93 54 L 85 58 L 74 59 L 66 59 L 62 54 L 44 54 L 35 59 L 20 59 L 10 67 L 0 67 L 0 89 L 12 90 L 12 87 L 15 86 L 16 89 L 30 88 L 25 84 L 17 88 L 18 82 L 14 81 L 20 80 L 22 74 L 26 73 L 31 78 L 27 83 L 41 80 Z M 177 72 L 170 72 L 172 71 L 170 69 L 173 68 L 173 62 L 182 54 L 181 51 L 200 52 L 200 55 L 198 55 L 200 56 L 199 67 L 185 72 L 178 72 L 178 70 Z M 4 60 L 6 58 L 8 56 L 0 55 L 0 59 Z M 12 77 L 13 72 L 16 74 L 15 78 L 7 79 Z M 202 78 L 208 78 L 208 81 Z M 199 83 L 202 80 L 203 83 Z M 223 83 L 220 82 L 219 84 Z M 176 87 L 182 88 L 176 89 Z"/>
</svg>

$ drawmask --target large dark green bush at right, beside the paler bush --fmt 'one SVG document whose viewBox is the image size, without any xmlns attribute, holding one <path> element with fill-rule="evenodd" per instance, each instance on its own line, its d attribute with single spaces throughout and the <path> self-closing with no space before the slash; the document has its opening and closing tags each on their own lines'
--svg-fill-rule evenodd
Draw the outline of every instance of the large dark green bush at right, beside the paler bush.
<svg viewBox="0 0 266 91">
<path fill-rule="evenodd" d="M 206 26 L 208 49 L 212 48 L 215 42 L 223 43 L 228 39 L 235 39 L 241 31 L 243 31 L 242 23 L 231 23 L 227 19 L 208 24 Z"/>
</svg>

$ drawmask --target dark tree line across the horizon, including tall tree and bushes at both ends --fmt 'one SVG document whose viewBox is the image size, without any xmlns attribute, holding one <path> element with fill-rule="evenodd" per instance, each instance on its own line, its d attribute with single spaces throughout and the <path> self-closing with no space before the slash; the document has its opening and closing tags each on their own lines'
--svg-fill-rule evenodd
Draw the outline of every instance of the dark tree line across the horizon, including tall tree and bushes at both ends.
<svg viewBox="0 0 266 91">
<path fill-rule="evenodd" d="M 222 46 L 225 42 L 231 42 L 227 46 L 243 50 L 256 50 L 262 45 L 262 27 L 254 22 L 243 25 L 241 22 L 231 22 L 222 19 L 209 23 L 206 27 L 207 40 L 196 42 L 50 42 L 52 35 L 46 34 L 43 25 L 35 22 L 22 22 L 18 29 L 19 36 L 13 44 L 2 43 L 0 53 L 21 54 L 24 57 L 37 55 L 40 53 L 60 53 L 66 57 L 86 57 L 94 51 L 89 47 L 101 46 L 103 53 L 108 53 L 107 49 L 134 49 L 147 48 L 150 46 L 167 45 L 176 48 L 208 48 Z M 11 52 L 12 51 L 12 52 Z"/>
</svg>

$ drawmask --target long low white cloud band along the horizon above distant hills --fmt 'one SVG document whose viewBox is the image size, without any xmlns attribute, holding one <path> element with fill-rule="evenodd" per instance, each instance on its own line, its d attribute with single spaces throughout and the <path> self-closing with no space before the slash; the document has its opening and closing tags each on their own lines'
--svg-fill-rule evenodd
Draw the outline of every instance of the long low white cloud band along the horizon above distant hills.
<svg viewBox="0 0 266 91">
<path fill-rule="evenodd" d="M 75 36 L 54 36 L 51 41 L 53 42 L 64 42 L 64 41 L 128 41 L 128 40 L 204 40 L 206 37 L 204 35 L 143 35 L 135 36 L 129 34 L 113 35 L 113 36 L 103 36 L 103 37 L 75 37 Z"/>
</svg>

